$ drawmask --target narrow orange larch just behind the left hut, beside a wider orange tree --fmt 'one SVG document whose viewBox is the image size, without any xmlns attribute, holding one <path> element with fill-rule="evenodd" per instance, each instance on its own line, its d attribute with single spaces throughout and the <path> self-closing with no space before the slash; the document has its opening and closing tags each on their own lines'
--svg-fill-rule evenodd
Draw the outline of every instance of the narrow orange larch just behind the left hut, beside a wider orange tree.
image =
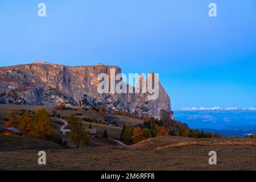
<svg viewBox="0 0 256 182">
<path fill-rule="evenodd" d="M 22 117 L 19 119 L 18 129 L 25 137 L 32 137 L 33 123 L 30 117 L 30 111 L 25 110 Z"/>
</svg>

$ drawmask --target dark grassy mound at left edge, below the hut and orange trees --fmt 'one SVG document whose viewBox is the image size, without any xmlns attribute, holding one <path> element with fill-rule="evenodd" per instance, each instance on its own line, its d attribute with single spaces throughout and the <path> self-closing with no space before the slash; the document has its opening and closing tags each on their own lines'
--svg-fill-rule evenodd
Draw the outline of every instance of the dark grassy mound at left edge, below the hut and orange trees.
<svg viewBox="0 0 256 182">
<path fill-rule="evenodd" d="M 34 138 L 0 135 L 0 151 L 14 150 L 60 150 L 66 147 L 55 142 Z"/>
</svg>

